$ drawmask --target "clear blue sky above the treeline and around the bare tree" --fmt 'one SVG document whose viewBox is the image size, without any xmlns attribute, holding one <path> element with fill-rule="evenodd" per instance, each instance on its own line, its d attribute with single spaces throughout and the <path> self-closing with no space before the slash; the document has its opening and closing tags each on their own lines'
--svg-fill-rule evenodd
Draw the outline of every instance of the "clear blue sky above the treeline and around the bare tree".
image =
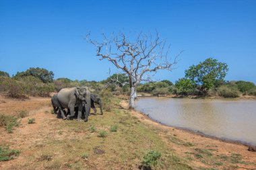
<svg viewBox="0 0 256 170">
<path fill-rule="evenodd" d="M 100 81 L 114 67 L 98 60 L 84 40 L 101 32 L 154 32 L 172 45 L 177 69 L 156 80 L 176 81 L 213 57 L 229 67 L 226 80 L 256 83 L 256 1 L 25 1 L 0 0 L 0 70 L 29 67 L 53 71 L 55 79 Z"/>
</svg>

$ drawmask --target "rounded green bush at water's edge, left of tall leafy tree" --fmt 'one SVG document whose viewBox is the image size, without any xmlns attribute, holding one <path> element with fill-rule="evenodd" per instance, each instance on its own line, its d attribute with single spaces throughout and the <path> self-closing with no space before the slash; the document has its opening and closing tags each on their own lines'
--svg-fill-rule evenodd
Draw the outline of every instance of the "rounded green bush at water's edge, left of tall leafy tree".
<svg viewBox="0 0 256 170">
<path fill-rule="evenodd" d="M 175 87 L 178 94 L 188 95 L 195 91 L 195 82 L 191 81 L 191 79 L 182 78 L 176 81 Z"/>
</svg>

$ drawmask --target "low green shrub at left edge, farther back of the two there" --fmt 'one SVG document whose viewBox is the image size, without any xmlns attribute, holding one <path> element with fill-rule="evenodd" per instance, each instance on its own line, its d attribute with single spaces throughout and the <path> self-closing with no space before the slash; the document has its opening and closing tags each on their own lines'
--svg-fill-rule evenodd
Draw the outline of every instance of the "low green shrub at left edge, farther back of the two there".
<svg viewBox="0 0 256 170">
<path fill-rule="evenodd" d="M 13 128 L 19 125 L 20 121 L 18 120 L 18 117 L 0 114 L 0 127 L 5 127 L 5 130 L 8 133 L 12 133 Z"/>
</svg>

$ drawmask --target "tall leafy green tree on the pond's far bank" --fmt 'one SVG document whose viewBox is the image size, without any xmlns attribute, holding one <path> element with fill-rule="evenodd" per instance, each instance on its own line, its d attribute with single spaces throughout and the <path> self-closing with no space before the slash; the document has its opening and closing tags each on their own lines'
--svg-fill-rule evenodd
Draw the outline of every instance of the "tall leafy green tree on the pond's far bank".
<svg viewBox="0 0 256 170">
<path fill-rule="evenodd" d="M 214 58 L 207 58 L 198 65 L 192 65 L 185 71 L 185 77 L 195 82 L 199 91 L 207 93 L 207 91 L 217 86 L 220 81 L 224 81 L 224 77 L 228 71 L 228 65 L 224 62 L 218 62 Z"/>
</svg>

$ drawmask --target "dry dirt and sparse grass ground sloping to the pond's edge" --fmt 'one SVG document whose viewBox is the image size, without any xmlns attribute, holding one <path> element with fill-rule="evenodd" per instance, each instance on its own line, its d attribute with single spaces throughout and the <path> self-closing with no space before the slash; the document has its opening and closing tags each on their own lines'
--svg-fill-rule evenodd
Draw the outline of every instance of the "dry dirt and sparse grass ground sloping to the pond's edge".
<svg viewBox="0 0 256 170">
<path fill-rule="evenodd" d="M 0 162 L 0 169 L 138 169 L 150 149 L 162 153 L 156 169 L 256 169 L 256 153 L 247 146 L 162 126 L 127 110 L 125 100 L 87 123 L 57 119 L 50 100 L 0 96 L 0 114 L 30 112 L 13 133 L 0 127 L 0 146 L 20 151 L 15 159 Z M 35 123 L 28 124 L 28 118 Z M 115 124 L 117 132 L 110 132 Z M 100 130 L 107 132 L 105 138 L 98 137 Z"/>
</svg>

